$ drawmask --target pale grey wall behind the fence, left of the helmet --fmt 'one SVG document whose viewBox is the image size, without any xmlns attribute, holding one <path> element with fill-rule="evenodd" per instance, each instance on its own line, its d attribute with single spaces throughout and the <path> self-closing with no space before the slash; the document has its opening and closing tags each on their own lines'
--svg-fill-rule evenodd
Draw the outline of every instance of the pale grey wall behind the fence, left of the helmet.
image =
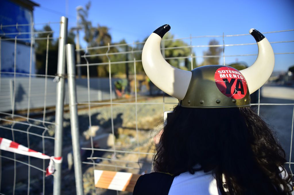
<svg viewBox="0 0 294 195">
<path fill-rule="evenodd" d="M 112 78 L 112 96 L 115 98 L 114 82 L 118 78 Z M 29 100 L 29 78 L 17 77 L 15 83 L 15 110 L 25 110 L 28 108 Z M 88 102 L 88 84 L 86 78 L 76 79 L 78 102 Z M 2 77 L 0 85 L 0 112 L 12 110 L 14 90 L 14 79 Z M 30 108 L 43 108 L 45 98 L 45 78 L 31 78 Z M 65 104 L 69 102 L 67 82 L 65 83 Z M 109 79 L 90 78 L 90 100 L 101 101 L 110 100 Z M 56 105 L 56 83 L 53 78 L 47 80 L 46 107 Z"/>
</svg>

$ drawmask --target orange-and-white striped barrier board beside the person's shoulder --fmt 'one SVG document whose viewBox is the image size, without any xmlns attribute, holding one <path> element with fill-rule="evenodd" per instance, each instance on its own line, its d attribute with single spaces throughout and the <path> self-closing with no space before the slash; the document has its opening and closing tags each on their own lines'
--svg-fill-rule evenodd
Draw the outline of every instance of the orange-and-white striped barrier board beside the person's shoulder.
<svg viewBox="0 0 294 195">
<path fill-rule="evenodd" d="M 95 187 L 133 192 L 141 175 L 126 172 L 94 170 Z"/>
</svg>

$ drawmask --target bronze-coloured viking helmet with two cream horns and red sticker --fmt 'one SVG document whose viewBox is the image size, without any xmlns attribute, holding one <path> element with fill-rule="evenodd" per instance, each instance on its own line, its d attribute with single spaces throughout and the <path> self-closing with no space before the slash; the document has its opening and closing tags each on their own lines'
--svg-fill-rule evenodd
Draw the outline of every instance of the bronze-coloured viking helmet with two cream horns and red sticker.
<svg viewBox="0 0 294 195">
<path fill-rule="evenodd" d="M 268 40 L 257 30 L 249 33 L 258 45 L 256 61 L 238 71 L 230 66 L 207 65 L 192 71 L 177 69 L 162 57 L 160 43 L 171 29 L 166 24 L 146 40 L 142 64 L 146 75 L 161 90 L 179 100 L 178 105 L 193 108 L 250 106 L 250 94 L 258 90 L 273 72 L 275 57 Z"/>
</svg>

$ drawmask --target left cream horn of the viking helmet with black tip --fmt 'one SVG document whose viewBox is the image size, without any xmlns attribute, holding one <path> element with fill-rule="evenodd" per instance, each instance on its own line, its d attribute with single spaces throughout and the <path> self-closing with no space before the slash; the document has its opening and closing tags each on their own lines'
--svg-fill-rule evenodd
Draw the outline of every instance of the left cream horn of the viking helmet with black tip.
<svg viewBox="0 0 294 195">
<path fill-rule="evenodd" d="M 163 25 L 148 37 L 142 51 L 142 64 L 146 75 L 159 89 L 183 100 L 191 81 L 192 72 L 173 67 L 162 57 L 161 39 L 170 29 L 170 25 Z"/>
</svg>

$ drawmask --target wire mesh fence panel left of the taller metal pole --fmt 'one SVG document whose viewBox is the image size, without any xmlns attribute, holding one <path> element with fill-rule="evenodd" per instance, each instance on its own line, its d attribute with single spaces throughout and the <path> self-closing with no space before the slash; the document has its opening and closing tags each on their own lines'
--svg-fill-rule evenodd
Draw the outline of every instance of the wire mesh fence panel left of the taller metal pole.
<svg viewBox="0 0 294 195">
<path fill-rule="evenodd" d="M 48 73 L 54 60 L 49 60 L 49 50 L 59 37 L 53 30 L 35 29 L 59 24 L 0 26 L 0 137 L 49 156 L 54 155 L 56 125 L 55 76 Z M 15 29 L 17 33 L 8 33 Z M 39 45 L 44 51 L 37 50 Z M 36 72 L 40 56 L 44 71 Z M 45 177 L 48 164 L 49 160 L 0 150 L 0 193 L 51 194 L 53 177 Z"/>
</svg>

